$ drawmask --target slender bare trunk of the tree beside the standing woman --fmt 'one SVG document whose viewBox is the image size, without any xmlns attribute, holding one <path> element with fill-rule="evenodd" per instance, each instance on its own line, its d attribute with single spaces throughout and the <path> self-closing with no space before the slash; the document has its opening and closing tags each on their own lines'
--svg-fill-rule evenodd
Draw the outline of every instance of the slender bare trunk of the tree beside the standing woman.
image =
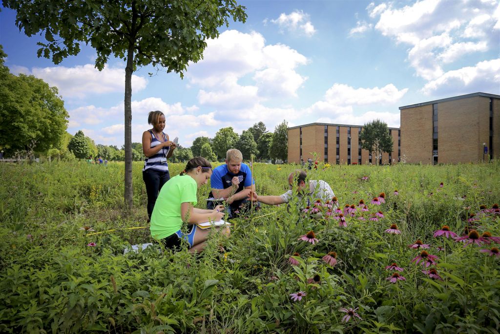
<svg viewBox="0 0 500 334">
<path fill-rule="evenodd" d="M 125 68 L 125 208 L 130 210 L 133 203 L 132 188 L 132 73 L 133 45 L 130 43 L 127 51 Z"/>
</svg>

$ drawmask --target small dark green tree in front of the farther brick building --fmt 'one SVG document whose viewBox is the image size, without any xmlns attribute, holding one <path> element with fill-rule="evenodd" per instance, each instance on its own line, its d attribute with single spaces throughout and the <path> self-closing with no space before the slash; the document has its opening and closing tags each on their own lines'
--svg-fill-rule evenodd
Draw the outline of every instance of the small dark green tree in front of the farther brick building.
<svg viewBox="0 0 500 334">
<path fill-rule="evenodd" d="M 361 148 L 375 154 L 375 157 L 378 157 L 381 152 L 392 152 L 392 137 L 387 123 L 379 119 L 364 124 L 359 140 L 361 140 Z"/>
</svg>

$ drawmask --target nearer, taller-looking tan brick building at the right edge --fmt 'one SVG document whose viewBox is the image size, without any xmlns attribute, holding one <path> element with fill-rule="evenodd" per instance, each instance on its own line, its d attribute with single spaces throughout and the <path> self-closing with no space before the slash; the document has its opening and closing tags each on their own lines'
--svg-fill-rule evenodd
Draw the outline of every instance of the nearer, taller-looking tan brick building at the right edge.
<svg viewBox="0 0 500 334">
<path fill-rule="evenodd" d="M 399 110 L 407 162 L 478 162 L 500 155 L 500 95 L 472 93 Z"/>
</svg>

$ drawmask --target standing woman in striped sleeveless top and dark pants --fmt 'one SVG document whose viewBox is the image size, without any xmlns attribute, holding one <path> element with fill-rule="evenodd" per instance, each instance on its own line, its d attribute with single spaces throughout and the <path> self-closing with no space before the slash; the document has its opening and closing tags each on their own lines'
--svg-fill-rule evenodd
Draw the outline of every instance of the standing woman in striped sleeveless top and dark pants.
<svg viewBox="0 0 500 334">
<path fill-rule="evenodd" d="M 146 185 L 147 216 L 151 219 L 156 197 L 163 184 L 170 179 L 166 159 L 172 156 L 175 143 L 170 141 L 168 135 L 163 132 L 165 115 L 161 111 L 151 111 L 147 116 L 147 123 L 152 125 L 152 129 L 142 134 L 142 152 L 146 157 L 142 169 L 142 180 Z"/>
</svg>

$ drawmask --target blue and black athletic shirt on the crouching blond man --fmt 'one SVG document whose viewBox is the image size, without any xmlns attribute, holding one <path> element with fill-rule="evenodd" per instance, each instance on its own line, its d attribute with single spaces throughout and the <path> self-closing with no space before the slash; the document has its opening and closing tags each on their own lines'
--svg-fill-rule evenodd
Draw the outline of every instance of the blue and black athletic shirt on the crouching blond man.
<svg viewBox="0 0 500 334">
<path fill-rule="evenodd" d="M 240 192 L 243 190 L 245 187 L 249 187 L 252 184 L 255 184 L 253 181 L 253 178 L 251 176 L 251 170 L 250 168 L 244 164 L 241 163 L 241 167 L 239 169 L 239 172 L 237 174 L 233 174 L 229 172 L 227 169 L 227 165 L 223 164 L 220 166 L 217 166 L 213 169 L 212 175 L 210 176 L 210 187 L 212 189 L 226 189 L 232 186 L 231 180 L 234 176 L 237 176 L 239 179 L 239 185 L 238 189 L 236 192 Z M 236 193 L 235 192 L 235 193 Z M 214 197 L 212 192 L 208 194 L 208 198 Z M 237 200 L 231 203 L 232 207 L 238 207 L 241 202 L 244 201 L 242 200 Z"/>
</svg>

